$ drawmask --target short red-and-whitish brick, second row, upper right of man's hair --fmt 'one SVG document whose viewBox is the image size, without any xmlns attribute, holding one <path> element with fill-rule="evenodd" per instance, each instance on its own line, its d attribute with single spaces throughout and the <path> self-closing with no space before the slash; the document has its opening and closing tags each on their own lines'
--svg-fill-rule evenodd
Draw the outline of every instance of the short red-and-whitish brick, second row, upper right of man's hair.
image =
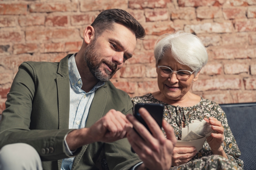
<svg viewBox="0 0 256 170">
<path fill-rule="evenodd" d="M 145 9 L 146 21 L 163 21 L 169 19 L 167 9 Z"/>
</svg>

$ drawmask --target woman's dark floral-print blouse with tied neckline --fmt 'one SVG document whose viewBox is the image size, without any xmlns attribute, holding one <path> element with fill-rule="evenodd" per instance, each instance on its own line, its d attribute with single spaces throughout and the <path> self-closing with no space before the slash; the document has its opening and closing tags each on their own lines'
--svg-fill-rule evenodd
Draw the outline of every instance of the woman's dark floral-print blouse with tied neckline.
<svg viewBox="0 0 256 170">
<path fill-rule="evenodd" d="M 214 101 L 207 100 L 201 97 L 200 102 L 197 103 L 195 106 L 180 107 L 166 104 L 154 98 L 153 95 L 150 93 L 141 97 L 134 97 L 132 98 L 132 102 L 133 105 L 137 103 L 162 103 L 164 105 L 163 119 L 165 119 L 170 125 L 172 125 L 176 134 L 176 138 L 178 140 L 181 139 L 183 116 L 185 117 L 185 127 L 188 127 L 189 123 L 193 123 L 193 120 L 202 121 L 204 117 L 215 117 L 218 121 L 221 122 L 222 127 L 224 128 L 224 141 L 222 143 L 222 147 L 226 152 L 228 159 L 243 168 L 243 161 L 239 159 L 241 152 L 238 149 L 236 140 L 234 139 L 234 136 L 229 128 L 226 114 L 221 109 L 221 107 Z M 162 132 L 166 135 L 163 128 Z M 213 153 L 208 142 L 205 140 L 203 148 L 198 151 L 191 160 L 199 159 L 202 156 L 209 155 L 213 155 Z"/>
</svg>

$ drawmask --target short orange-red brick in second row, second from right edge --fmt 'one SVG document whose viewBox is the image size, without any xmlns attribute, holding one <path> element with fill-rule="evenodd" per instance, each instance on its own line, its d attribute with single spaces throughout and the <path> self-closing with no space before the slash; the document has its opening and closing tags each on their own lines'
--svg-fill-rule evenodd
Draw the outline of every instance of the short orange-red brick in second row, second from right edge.
<svg viewBox="0 0 256 170">
<path fill-rule="evenodd" d="M 228 7 L 222 9 L 225 19 L 246 18 L 246 10 L 247 7 Z"/>
</svg>

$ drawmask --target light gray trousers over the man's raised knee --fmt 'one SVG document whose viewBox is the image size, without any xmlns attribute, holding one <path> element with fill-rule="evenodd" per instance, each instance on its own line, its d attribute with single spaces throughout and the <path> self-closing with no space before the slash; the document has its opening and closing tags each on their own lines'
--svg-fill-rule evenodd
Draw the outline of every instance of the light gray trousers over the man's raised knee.
<svg viewBox="0 0 256 170">
<path fill-rule="evenodd" d="M 42 170 L 39 154 L 26 143 L 5 145 L 0 150 L 0 170 Z"/>
</svg>

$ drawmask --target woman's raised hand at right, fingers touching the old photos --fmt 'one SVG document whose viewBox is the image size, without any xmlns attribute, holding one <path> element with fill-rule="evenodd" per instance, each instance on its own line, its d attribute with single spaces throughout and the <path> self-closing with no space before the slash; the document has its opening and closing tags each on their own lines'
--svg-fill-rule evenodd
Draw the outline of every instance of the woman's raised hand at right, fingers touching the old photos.
<svg viewBox="0 0 256 170">
<path fill-rule="evenodd" d="M 223 150 L 223 147 L 221 146 L 224 140 L 224 129 L 222 127 L 221 122 L 218 121 L 215 117 L 209 117 L 209 120 L 207 118 L 204 118 L 204 120 L 208 122 L 210 125 L 212 125 L 212 130 L 216 131 L 216 133 L 212 133 L 211 136 L 206 138 L 207 142 L 209 143 L 209 146 L 211 147 L 212 153 L 228 158 Z"/>
</svg>

